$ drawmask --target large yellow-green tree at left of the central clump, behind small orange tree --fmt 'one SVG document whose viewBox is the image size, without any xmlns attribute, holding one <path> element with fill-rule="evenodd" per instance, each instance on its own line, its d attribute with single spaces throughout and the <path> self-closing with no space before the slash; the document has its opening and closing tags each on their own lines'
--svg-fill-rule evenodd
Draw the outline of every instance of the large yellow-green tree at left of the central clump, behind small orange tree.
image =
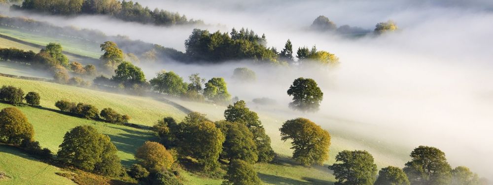
<svg viewBox="0 0 493 185">
<path fill-rule="evenodd" d="M 197 159 L 204 171 L 217 169 L 219 154 L 225 140 L 221 130 L 204 114 L 198 112 L 189 113 L 179 126 L 179 153 Z"/>
</svg>

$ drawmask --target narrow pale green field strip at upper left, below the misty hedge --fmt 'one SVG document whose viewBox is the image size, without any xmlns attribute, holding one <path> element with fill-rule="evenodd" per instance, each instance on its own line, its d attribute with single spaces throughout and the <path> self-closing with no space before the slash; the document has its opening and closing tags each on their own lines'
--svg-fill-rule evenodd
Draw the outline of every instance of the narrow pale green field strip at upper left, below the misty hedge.
<svg viewBox="0 0 493 185">
<path fill-rule="evenodd" d="M 0 27 L 0 34 L 39 45 L 46 45 L 50 42 L 60 43 L 62 44 L 64 51 L 95 59 L 98 59 L 103 54 L 99 48 L 99 44 L 101 43 L 89 42 L 82 39 L 49 37 L 9 27 Z M 33 51 L 35 50 L 33 49 Z"/>
</svg>

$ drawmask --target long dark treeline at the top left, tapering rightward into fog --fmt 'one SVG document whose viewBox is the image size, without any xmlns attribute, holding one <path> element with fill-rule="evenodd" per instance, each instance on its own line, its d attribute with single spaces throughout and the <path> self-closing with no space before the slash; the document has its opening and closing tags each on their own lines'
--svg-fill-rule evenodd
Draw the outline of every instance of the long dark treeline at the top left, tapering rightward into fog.
<svg viewBox="0 0 493 185">
<path fill-rule="evenodd" d="M 12 5 L 12 8 L 52 15 L 107 15 L 124 21 L 159 26 L 203 24 L 201 20 L 188 20 L 179 13 L 158 8 L 151 10 L 138 2 L 125 0 L 24 0 L 21 6 Z"/>
</svg>

